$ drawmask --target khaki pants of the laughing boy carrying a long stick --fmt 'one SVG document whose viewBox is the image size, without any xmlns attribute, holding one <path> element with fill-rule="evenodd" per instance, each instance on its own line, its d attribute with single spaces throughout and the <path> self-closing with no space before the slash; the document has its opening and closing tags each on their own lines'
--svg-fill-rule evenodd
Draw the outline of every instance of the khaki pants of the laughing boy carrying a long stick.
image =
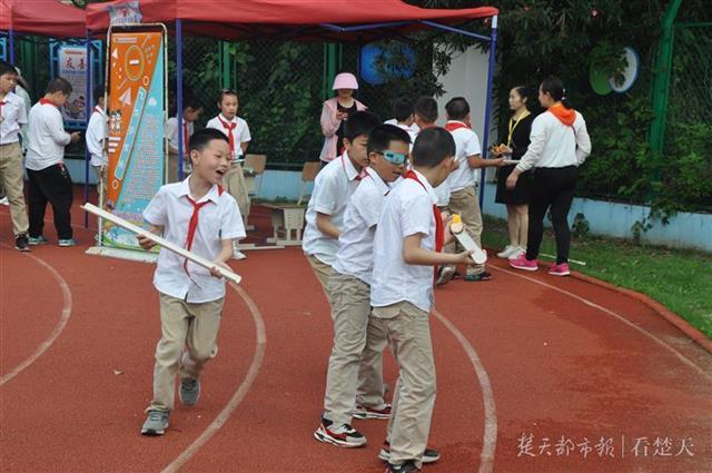
<svg viewBox="0 0 712 473">
<path fill-rule="evenodd" d="M 205 364 L 218 353 L 225 298 L 191 304 L 166 294 L 159 296 L 162 336 L 156 346 L 154 400 L 147 411 L 172 411 L 176 374 L 181 380 L 197 380 Z"/>
</svg>

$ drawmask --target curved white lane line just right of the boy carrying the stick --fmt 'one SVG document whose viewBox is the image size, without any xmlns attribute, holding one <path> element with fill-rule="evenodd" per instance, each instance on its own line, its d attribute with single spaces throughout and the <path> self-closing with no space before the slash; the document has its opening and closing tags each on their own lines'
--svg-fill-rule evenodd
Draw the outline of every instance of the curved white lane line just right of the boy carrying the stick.
<svg viewBox="0 0 712 473">
<path fill-rule="evenodd" d="M 206 430 L 200 434 L 195 442 L 192 442 L 176 460 L 174 460 L 168 466 L 166 466 L 161 473 L 172 473 L 180 470 L 197 452 L 210 441 L 212 435 L 215 435 L 221 427 L 225 425 L 227 420 L 233 415 L 233 412 L 237 408 L 237 406 L 243 402 L 247 392 L 253 385 L 253 382 L 257 377 L 259 373 L 259 368 L 263 364 L 263 359 L 265 357 L 265 348 L 267 346 L 267 332 L 265 329 L 265 321 L 257 308 L 255 302 L 249 297 L 249 295 L 239 286 L 231 284 L 230 287 L 239 294 L 243 298 L 247 308 L 249 309 L 253 321 L 255 321 L 255 332 L 257 338 L 257 346 L 255 347 L 255 355 L 253 356 L 253 363 L 249 366 L 249 371 L 247 372 L 247 376 L 243 381 L 243 384 L 239 385 L 230 401 L 225 405 L 222 411 L 215 417 L 215 421 L 210 425 L 206 427 Z"/>
</svg>

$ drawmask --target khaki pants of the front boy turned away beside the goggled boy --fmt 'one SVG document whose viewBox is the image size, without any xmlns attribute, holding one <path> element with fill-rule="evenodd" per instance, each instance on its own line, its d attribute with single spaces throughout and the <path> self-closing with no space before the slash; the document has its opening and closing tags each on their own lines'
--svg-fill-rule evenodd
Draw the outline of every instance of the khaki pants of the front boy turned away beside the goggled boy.
<svg viewBox="0 0 712 473">
<path fill-rule="evenodd" d="M 390 463 L 421 465 L 435 405 L 435 362 L 428 313 L 408 302 L 374 307 L 370 316 L 384 332 L 398 363 L 398 382 L 388 423 Z"/>
</svg>

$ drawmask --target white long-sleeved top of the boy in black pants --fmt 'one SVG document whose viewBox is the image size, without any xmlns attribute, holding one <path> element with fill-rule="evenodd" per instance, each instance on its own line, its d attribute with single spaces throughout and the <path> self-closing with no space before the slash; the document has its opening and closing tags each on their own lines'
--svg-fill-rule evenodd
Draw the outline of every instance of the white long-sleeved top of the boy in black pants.
<svg viewBox="0 0 712 473">
<path fill-rule="evenodd" d="M 65 146 L 71 136 L 65 131 L 65 122 L 59 108 L 52 104 L 34 104 L 28 117 L 30 132 L 24 166 L 31 170 L 42 170 L 62 162 Z"/>
</svg>

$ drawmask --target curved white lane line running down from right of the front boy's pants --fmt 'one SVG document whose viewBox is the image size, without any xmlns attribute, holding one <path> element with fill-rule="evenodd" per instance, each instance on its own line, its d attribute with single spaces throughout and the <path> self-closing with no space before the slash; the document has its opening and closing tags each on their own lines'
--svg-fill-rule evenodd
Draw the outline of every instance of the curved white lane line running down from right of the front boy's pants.
<svg viewBox="0 0 712 473">
<path fill-rule="evenodd" d="M 494 392 L 487 371 L 482 364 L 482 359 L 472 344 L 465 338 L 459 329 L 443 314 L 433 309 L 433 315 L 457 338 L 463 349 L 469 357 L 472 366 L 475 368 L 479 386 L 482 387 L 482 398 L 485 410 L 485 431 L 482 437 L 482 453 L 479 454 L 479 473 L 492 473 L 494 470 L 494 453 L 497 446 L 497 411 L 494 403 Z"/>
</svg>

